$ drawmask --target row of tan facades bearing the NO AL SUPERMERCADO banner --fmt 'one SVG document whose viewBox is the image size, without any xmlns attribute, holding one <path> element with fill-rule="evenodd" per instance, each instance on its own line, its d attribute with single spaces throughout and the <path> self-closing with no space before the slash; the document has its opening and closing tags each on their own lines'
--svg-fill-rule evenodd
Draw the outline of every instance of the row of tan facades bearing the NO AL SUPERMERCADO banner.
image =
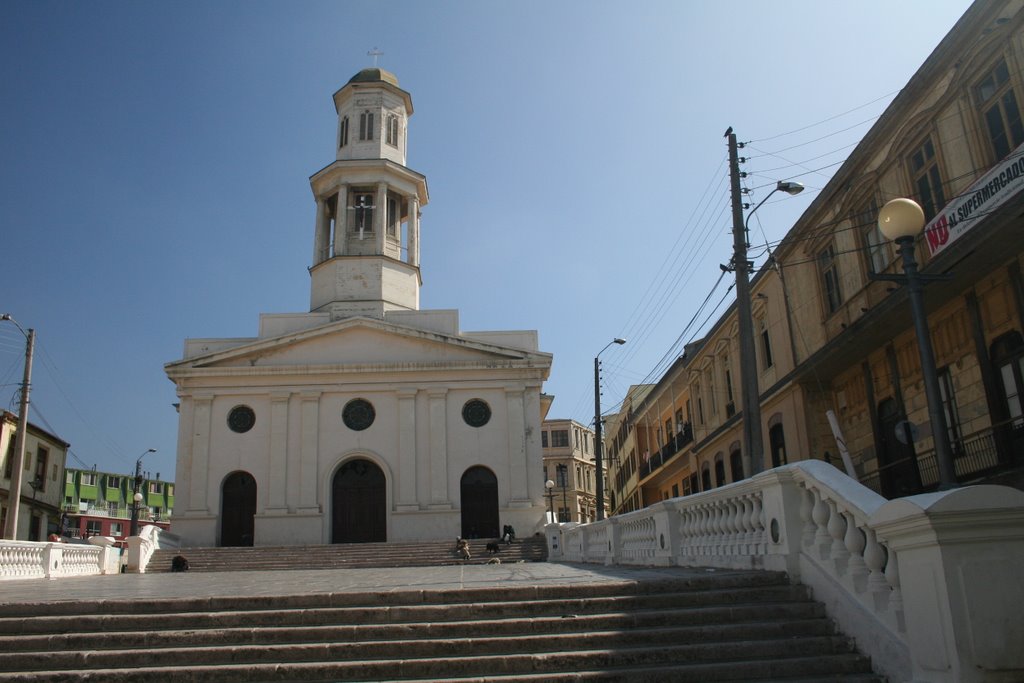
<svg viewBox="0 0 1024 683">
<path fill-rule="evenodd" d="M 1022 4 L 976 2 L 753 279 L 761 467 L 826 460 L 887 497 L 937 485 L 907 292 L 892 281 L 903 269 L 878 228 L 880 208 L 907 197 L 928 221 L 915 258 L 935 275 L 925 300 L 956 477 L 1020 481 L 1022 70 Z M 737 387 L 750 380 L 737 338 L 733 306 L 642 400 L 627 401 L 615 423 L 628 434 L 610 447 L 632 439 L 638 475 L 613 470 L 617 501 L 649 505 L 744 476 Z M 691 437 L 679 437 L 680 424 Z"/>
</svg>

